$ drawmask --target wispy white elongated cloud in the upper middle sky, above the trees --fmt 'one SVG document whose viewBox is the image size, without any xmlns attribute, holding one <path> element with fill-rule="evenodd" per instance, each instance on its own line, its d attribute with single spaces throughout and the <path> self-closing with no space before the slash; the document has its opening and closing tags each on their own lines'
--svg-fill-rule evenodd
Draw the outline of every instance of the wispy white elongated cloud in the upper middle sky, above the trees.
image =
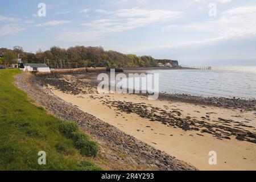
<svg viewBox="0 0 256 182">
<path fill-rule="evenodd" d="M 143 10 L 143 9 L 121 9 L 117 11 L 95 10 L 97 13 L 108 15 L 104 19 L 93 20 L 89 23 L 82 23 L 88 27 L 88 31 L 64 32 L 60 35 L 61 40 L 75 42 L 75 36 L 80 36 L 77 42 L 99 40 L 103 36 L 122 32 L 138 27 L 144 27 L 152 23 L 170 21 L 180 17 L 182 11 L 164 10 Z M 90 34 L 92 36 L 90 36 Z M 70 35 L 70 36 L 69 36 Z"/>
</svg>

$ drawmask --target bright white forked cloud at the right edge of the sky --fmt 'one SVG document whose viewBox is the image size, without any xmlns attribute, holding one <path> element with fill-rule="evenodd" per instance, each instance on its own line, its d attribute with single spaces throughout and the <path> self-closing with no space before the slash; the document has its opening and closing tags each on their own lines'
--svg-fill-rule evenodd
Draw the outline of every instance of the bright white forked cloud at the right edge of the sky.
<svg viewBox="0 0 256 182">
<path fill-rule="evenodd" d="M 251 6 L 250 6 L 251 7 Z M 207 44 L 221 40 L 237 39 L 245 36 L 256 35 L 256 11 L 250 7 L 234 8 L 222 13 L 220 18 L 209 20 L 205 23 L 191 23 L 183 25 L 171 25 L 163 28 L 164 31 L 183 31 L 183 32 L 208 32 L 210 38 L 189 40 L 187 42 L 176 42 L 162 46 L 147 47 L 153 48 L 172 48 L 179 46 L 192 46 L 195 44 Z M 247 10 L 247 11 L 245 11 Z M 214 37 L 215 35 L 215 37 Z"/>
</svg>

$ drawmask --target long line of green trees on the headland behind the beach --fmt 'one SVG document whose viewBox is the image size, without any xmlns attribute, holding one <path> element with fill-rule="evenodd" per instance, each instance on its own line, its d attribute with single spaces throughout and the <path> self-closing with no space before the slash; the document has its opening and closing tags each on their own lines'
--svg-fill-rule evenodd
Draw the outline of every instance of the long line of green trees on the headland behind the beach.
<svg viewBox="0 0 256 182">
<path fill-rule="evenodd" d="M 2 55 L 1 55 L 2 54 Z M 24 52 L 20 46 L 13 50 L 0 48 L 0 64 L 14 63 L 16 58 L 23 63 L 46 63 L 50 68 L 81 67 L 156 67 L 157 61 L 151 56 L 125 55 L 117 51 L 105 51 L 102 47 L 76 46 L 68 49 L 51 47 L 47 51 Z"/>
</svg>

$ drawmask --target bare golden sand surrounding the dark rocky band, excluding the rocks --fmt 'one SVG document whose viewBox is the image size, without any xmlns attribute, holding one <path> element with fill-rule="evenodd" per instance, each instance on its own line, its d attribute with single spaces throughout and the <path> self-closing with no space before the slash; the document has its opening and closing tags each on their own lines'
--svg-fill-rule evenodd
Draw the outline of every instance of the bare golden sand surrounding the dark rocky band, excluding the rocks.
<svg viewBox="0 0 256 182">
<path fill-rule="evenodd" d="M 195 118 L 213 125 L 218 122 L 218 125 L 228 125 L 232 128 L 238 127 L 237 123 L 243 123 L 239 128 L 255 133 L 256 119 L 253 111 L 222 109 L 183 102 L 152 101 L 134 94 L 98 94 L 93 88 L 83 88 L 87 93 L 74 95 L 61 92 L 53 86 L 49 87 L 53 94 L 76 105 L 82 111 L 200 170 L 256 170 L 255 143 L 240 141 L 233 135 L 228 137 L 230 139 L 216 138 L 209 133 L 170 127 L 143 118 L 138 113 L 122 111 L 115 107 L 115 103 L 132 102 L 147 107 L 155 106 L 167 112 L 175 110 L 180 118 Z M 233 122 L 222 123 L 220 118 L 224 121 L 232 119 Z M 217 165 L 209 165 L 209 151 L 217 152 Z"/>
</svg>

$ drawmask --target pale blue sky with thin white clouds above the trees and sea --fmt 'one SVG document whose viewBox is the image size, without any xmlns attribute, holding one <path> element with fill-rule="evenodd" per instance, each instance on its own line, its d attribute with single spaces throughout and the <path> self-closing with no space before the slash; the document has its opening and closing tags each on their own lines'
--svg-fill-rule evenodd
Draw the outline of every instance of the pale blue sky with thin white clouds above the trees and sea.
<svg viewBox="0 0 256 182">
<path fill-rule="evenodd" d="M 182 65 L 256 65 L 256 0 L 1 1 L 0 47 L 14 46 L 102 46 Z"/>
</svg>

